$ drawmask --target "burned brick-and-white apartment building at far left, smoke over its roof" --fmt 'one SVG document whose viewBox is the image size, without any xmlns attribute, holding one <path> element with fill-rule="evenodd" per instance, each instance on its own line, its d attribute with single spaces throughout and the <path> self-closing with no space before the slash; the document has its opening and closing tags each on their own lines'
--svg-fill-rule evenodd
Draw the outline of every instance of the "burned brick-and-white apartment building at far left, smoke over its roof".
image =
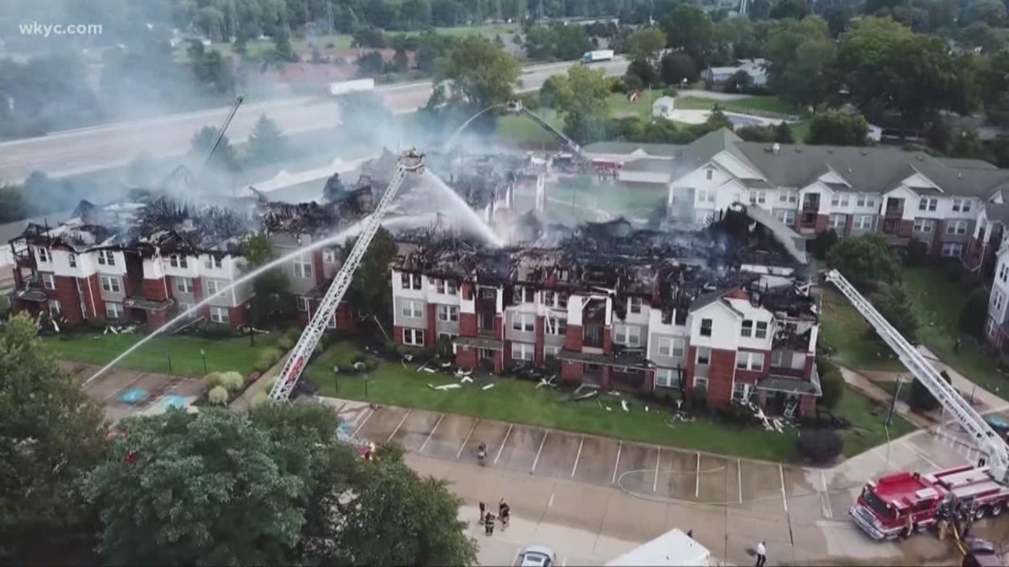
<svg viewBox="0 0 1009 567">
<path fill-rule="evenodd" d="M 86 320 L 157 328 L 239 279 L 247 270 L 242 243 L 264 233 L 278 256 L 363 218 L 369 188 L 340 200 L 289 205 L 263 200 L 185 204 L 164 196 L 98 207 L 82 202 L 57 226 L 30 224 L 10 242 L 17 310 L 47 311 L 69 325 Z M 338 246 L 282 265 L 307 320 L 340 267 Z M 249 321 L 252 286 L 213 298 L 194 314 L 233 328 Z M 333 327 L 349 328 L 341 306 Z"/>
</svg>

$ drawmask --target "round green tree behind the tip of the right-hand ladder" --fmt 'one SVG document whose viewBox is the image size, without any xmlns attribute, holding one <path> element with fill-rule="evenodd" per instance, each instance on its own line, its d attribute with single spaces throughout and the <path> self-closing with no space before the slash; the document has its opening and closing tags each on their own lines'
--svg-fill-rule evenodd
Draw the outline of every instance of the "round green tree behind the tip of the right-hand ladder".
<svg viewBox="0 0 1009 567">
<path fill-rule="evenodd" d="M 827 254 L 827 262 L 864 292 L 900 279 L 900 258 L 878 234 L 842 240 Z"/>
</svg>

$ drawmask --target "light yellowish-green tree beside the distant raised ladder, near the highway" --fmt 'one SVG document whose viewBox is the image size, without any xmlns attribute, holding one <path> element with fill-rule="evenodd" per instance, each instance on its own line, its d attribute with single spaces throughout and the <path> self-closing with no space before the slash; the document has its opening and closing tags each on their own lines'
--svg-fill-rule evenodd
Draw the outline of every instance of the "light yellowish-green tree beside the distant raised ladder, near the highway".
<svg viewBox="0 0 1009 567">
<path fill-rule="evenodd" d="M 556 108 L 564 118 L 564 133 L 579 143 L 602 138 L 608 114 L 609 88 L 601 70 L 583 66 L 557 77 Z"/>
</svg>

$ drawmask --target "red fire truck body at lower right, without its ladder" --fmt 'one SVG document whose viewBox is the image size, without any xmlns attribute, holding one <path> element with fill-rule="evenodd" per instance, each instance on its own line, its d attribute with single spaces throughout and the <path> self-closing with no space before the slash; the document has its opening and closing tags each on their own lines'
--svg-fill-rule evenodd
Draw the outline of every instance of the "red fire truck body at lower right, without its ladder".
<svg viewBox="0 0 1009 567">
<path fill-rule="evenodd" d="M 849 515 L 876 540 L 910 537 L 933 526 L 949 499 L 974 520 L 1001 516 L 1009 486 L 996 482 L 988 467 L 964 465 L 929 474 L 897 472 L 869 482 Z"/>
</svg>

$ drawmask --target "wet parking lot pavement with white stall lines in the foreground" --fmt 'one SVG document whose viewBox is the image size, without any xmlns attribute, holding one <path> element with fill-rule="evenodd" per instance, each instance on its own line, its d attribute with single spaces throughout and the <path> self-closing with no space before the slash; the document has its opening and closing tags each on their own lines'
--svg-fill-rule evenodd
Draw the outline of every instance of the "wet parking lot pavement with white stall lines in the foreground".
<svg viewBox="0 0 1009 567">
<path fill-rule="evenodd" d="M 353 421 L 357 438 L 402 444 L 412 465 L 424 463 L 422 472 L 437 470 L 432 474 L 453 481 L 468 504 L 508 498 L 516 518 L 540 525 L 519 543 L 557 548 L 556 542 L 567 542 L 565 561 L 573 564 L 605 563 L 672 528 L 694 530 L 731 564 L 752 563 L 748 550 L 760 540 L 774 550 L 770 565 L 826 558 L 941 564 L 951 557 L 948 546 L 927 536 L 913 544 L 873 542 L 851 524 L 848 508 L 870 478 L 956 466 L 976 453 L 917 432 L 819 470 L 422 410 L 329 403 Z M 482 462 L 476 458 L 481 442 L 487 446 Z M 491 547 L 504 549 L 497 541 Z M 518 547 L 508 549 L 488 551 L 492 557 L 481 553 L 481 562 L 510 562 Z"/>
</svg>

